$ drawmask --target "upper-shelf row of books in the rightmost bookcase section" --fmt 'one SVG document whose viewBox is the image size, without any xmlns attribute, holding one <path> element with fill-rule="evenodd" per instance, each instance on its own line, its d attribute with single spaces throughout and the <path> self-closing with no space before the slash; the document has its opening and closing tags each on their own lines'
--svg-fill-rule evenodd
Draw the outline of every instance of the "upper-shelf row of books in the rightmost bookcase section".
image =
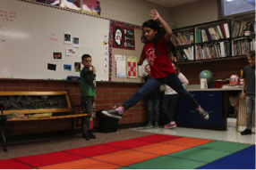
<svg viewBox="0 0 256 170">
<path fill-rule="evenodd" d="M 241 20 L 239 22 L 235 22 L 232 27 L 232 37 L 244 36 L 244 31 L 253 32 L 252 22 L 247 22 Z"/>
</svg>

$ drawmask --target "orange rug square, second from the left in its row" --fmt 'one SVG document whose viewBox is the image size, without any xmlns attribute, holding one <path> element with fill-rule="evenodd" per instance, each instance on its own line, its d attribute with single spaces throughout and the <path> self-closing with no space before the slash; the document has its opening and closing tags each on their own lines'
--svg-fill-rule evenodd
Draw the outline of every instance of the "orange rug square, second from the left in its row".
<svg viewBox="0 0 256 170">
<path fill-rule="evenodd" d="M 102 160 L 105 162 L 109 162 L 112 164 L 120 165 L 120 166 L 128 166 L 131 164 L 136 164 L 141 161 L 148 160 L 150 158 L 157 158 L 158 155 L 142 153 L 133 150 L 123 150 L 115 153 L 110 153 L 107 155 L 102 155 L 98 157 L 93 157 L 97 160 Z"/>
</svg>

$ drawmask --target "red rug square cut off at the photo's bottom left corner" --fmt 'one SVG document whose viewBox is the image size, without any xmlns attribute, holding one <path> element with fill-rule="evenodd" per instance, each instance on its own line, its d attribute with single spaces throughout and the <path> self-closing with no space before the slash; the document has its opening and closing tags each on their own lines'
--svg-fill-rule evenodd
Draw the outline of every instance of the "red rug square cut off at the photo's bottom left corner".
<svg viewBox="0 0 256 170">
<path fill-rule="evenodd" d="M 6 170 L 13 170 L 13 169 L 19 169 L 19 170 L 27 170 L 29 168 L 32 168 L 32 166 L 27 166 L 25 164 L 22 164 L 21 162 L 18 162 L 13 159 L 5 159 L 5 160 L 0 160 L 0 169 L 6 169 Z"/>
</svg>

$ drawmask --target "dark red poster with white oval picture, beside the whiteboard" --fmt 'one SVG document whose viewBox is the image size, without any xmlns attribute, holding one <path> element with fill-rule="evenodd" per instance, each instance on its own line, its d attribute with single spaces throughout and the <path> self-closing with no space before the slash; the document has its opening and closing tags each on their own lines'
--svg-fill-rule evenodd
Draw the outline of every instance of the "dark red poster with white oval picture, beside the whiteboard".
<svg viewBox="0 0 256 170">
<path fill-rule="evenodd" d="M 113 47 L 135 50 L 134 28 L 113 25 Z"/>
</svg>

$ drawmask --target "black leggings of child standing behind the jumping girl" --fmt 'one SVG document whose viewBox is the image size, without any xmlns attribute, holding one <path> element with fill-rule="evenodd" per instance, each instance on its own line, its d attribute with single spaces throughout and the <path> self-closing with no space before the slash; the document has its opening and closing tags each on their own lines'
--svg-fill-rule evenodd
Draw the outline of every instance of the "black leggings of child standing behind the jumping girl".
<svg viewBox="0 0 256 170">
<path fill-rule="evenodd" d="M 165 113 L 169 122 L 175 121 L 175 108 L 177 106 L 179 99 L 179 94 L 167 94 L 163 97 L 161 109 Z"/>
</svg>

